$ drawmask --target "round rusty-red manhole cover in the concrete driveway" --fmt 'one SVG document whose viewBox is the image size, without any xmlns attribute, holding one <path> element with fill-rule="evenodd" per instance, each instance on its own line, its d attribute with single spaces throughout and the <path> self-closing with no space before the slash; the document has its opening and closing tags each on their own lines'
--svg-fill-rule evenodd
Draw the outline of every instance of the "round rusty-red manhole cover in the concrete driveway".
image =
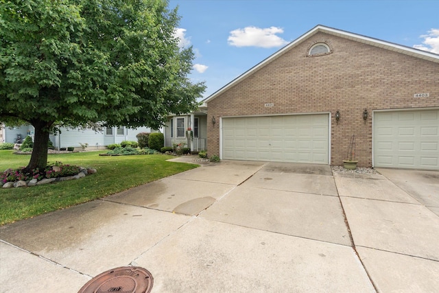
<svg viewBox="0 0 439 293">
<path fill-rule="evenodd" d="M 78 293 L 148 293 L 153 283 L 152 274 L 144 268 L 123 266 L 99 274 L 82 286 Z"/>
</svg>

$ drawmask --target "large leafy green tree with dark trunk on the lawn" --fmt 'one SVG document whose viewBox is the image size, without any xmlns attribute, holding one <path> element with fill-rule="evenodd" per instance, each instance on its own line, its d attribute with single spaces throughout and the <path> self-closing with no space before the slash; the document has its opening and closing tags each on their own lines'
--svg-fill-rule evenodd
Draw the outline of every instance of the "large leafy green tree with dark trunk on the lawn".
<svg viewBox="0 0 439 293">
<path fill-rule="evenodd" d="M 0 122 L 35 128 L 27 168 L 47 165 L 57 124 L 158 128 L 197 106 L 179 16 L 165 0 L 0 3 Z"/>
</svg>

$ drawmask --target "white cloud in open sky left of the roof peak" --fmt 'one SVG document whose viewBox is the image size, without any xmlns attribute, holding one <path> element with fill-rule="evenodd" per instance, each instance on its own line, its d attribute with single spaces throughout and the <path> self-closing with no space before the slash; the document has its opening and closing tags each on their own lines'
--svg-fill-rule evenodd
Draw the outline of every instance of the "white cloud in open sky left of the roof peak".
<svg viewBox="0 0 439 293">
<path fill-rule="evenodd" d="M 228 44 L 236 47 L 281 47 L 287 45 L 287 41 L 276 36 L 282 34 L 283 29 L 280 27 L 268 27 L 265 29 L 259 27 L 244 27 L 230 32 Z"/>
</svg>

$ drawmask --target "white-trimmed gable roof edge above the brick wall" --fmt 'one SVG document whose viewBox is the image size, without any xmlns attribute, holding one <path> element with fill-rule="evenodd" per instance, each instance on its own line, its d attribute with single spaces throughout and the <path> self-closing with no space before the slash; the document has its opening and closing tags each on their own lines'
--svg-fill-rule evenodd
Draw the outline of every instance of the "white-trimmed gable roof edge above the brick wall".
<svg viewBox="0 0 439 293">
<path fill-rule="evenodd" d="M 313 36 L 314 34 L 317 34 L 318 32 L 332 34 L 333 36 L 340 36 L 341 38 L 355 40 L 359 43 L 365 43 L 365 44 L 372 45 L 375 47 L 380 47 L 383 49 L 388 49 L 390 51 L 396 51 L 396 52 L 401 53 L 401 54 L 406 54 L 406 55 L 414 56 L 416 58 L 421 58 L 421 59 L 429 60 L 431 62 L 439 63 L 439 55 L 431 53 L 429 51 L 423 51 L 420 49 L 415 49 L 412 47 L 407 47 L 407 46 L 399 45 L 396 43 L 386 42 L 385 40 L 379 40 L 378 38 L 370 38 L 370 36 L 363 36 L 361 34 L 353 34 L 351 32 L 346 32 L 344 30 L 337 30 L 333 27 L 325 27 L 324 25 L 316 25 L 316 27 L 314 27 L 309 32 L 302 34 L 302 36 L 299 36 L 298 38 L 296 38 L 296 40 L 292 41 L 292 43 L 289 43 L 288 45 L 286 45 L 282 49 L 276 51 L 276 53 L 272 54 L 270 57 L 266 58 L 262 62 L 259 62 L 257 65 L 250 68 L 248 71 L 239 75 L 237 78 L 235 78 L 235 80 L 232 80 L 231 82 L 229 82 L 228 84 L 223 86 L 218 91 L 215 91 L 215 93 L 213 93 L 209 97 L 206 97 L 206 99 L 204 99 L 202 102 L 204 102 L 204 104 L 205 104 L 207 102 L 210 102 L 212 99 L 215 99 L 215 97 L 221 95 L 222 93 L 224 93 L 225 91 L 230 89 L 232 86 L 235 86 L 235 84 L 241 82 L 241 80 L 244 80 L 249 75 L 252 75 L 252 73 L 254 73 L 255 71 L 258 71 L 259 69 L 261 69 L 261 67 L 264 67 L 272 60 L 283 55 L 285 52 L 296 47 L 298 44 L 302 43 L 302 41 L 306 40 L 307 38 L 310 38 L 311 36 Z"/>
</svg>

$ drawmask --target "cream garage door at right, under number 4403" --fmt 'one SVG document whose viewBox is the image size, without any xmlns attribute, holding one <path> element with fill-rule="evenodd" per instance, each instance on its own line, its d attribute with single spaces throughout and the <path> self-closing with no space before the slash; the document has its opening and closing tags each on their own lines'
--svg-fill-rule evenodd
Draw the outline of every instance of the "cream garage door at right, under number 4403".
<svg viewBox="0 0 439 293">
<path fill-rule="evenodd" d="M 439 110 L 376 112 L 375 167 L 439 169 Z"/>
</svg>

